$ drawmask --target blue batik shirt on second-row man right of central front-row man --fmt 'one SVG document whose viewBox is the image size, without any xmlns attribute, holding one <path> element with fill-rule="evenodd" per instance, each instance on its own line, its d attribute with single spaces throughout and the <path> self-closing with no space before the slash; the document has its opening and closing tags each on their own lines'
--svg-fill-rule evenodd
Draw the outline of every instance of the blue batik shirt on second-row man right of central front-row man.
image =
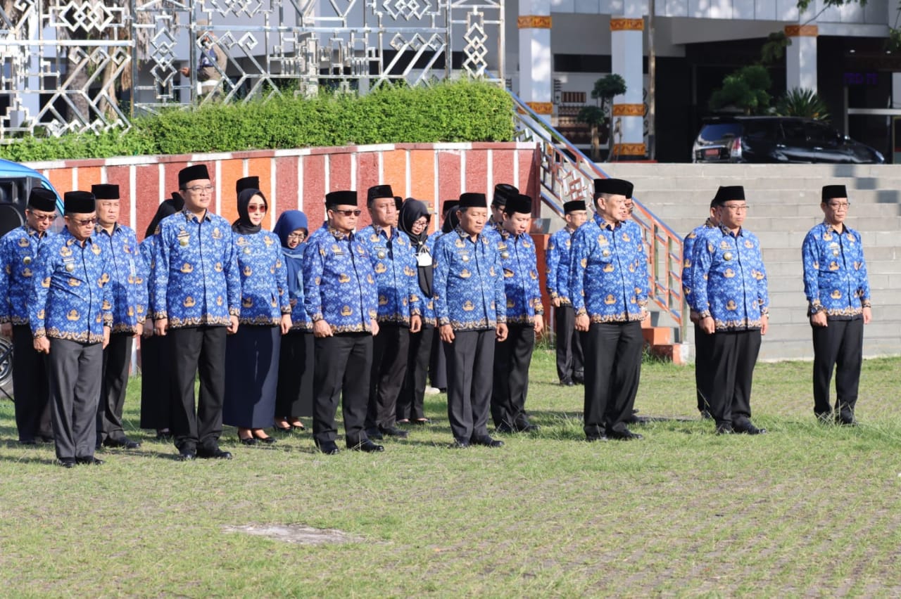
<svg viewBox="0 0 901 599">
<path fill-rule="evenodd" d="M 535 315 L 544 314 L 535 243 L 528 233 L 514 235 L 504 228 L 492 241 L 504 271 L 507 324 L 534 325 Z"/>
</svg>

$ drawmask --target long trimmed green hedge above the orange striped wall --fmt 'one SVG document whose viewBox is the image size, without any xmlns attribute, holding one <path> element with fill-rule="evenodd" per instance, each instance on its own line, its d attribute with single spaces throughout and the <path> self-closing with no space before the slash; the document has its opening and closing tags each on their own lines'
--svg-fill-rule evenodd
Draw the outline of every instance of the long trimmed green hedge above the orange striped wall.
<svg viewBox="0 0 901 599">
<path fill-rule="evenodd" d="M 513 101 L 487 83 L 383 86 L 367 95 L 278 97 L 172 109 L 99 135 L 27 138 L 0 147 L 16 162 L 378 143 L 509 141 Z"/>
</svg>

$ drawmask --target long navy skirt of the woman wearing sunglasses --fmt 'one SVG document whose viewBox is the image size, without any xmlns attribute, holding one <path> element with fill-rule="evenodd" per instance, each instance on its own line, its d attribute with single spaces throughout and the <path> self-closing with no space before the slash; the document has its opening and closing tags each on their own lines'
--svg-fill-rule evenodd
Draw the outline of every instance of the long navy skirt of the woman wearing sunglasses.
<svg viewBox="0 0 901 599">
<path fill-rule="evenodd" d="M 278 326 L 241 325 L 225 341 L 223 425 L 268 428 L 276 414 Z"/>
</svg>

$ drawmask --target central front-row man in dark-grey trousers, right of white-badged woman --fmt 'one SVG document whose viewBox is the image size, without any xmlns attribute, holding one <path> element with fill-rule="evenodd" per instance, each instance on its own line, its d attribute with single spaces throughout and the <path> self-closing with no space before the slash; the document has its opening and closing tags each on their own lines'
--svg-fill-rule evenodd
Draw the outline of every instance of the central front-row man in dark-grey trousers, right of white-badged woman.
<svg viewBox="0 0 901 599">
<path fill-rule="evenodd" d="M 484 193 L 463 193 L 460 224 L 435 243 L 435 316 L 447 357 L 448 419 L 455 447 L 500 447 L 488 434 L 495 343 L 507 336 L 500 256 L 483 234 Z"/>
</svg>

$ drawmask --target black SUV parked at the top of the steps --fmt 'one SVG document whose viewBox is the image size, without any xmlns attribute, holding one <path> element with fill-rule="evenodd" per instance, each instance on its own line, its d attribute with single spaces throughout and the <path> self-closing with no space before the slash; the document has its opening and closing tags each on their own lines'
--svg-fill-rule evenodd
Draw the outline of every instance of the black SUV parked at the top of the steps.
<svg viewBox="0 0 901 599">
<path fill-rule="evenodd" d="M 691 161 L 881 165 L 886 159 L 824 122 L 765 116 L 705 119 Z"/>
</svg>

